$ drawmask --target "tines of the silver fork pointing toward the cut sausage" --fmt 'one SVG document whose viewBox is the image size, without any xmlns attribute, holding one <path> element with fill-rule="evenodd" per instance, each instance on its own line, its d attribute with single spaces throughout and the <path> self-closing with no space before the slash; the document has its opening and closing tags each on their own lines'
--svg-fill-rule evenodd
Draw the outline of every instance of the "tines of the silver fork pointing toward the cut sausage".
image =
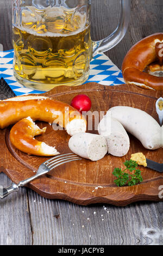
<svg viewBox="0 0 163 256">
<path fill-rule="evenodd" d="M 76 160 L 82 160 L 82 159 L 73 153 L 69 153 L 69 154 L 54 156 L 51 159 L 45 161 L 43 164 L 45 164 L 45 166 L 49 170 L 52 170 L 53 168 L 58 167 L 61 164 L 76 161 Z"/>
</svg>

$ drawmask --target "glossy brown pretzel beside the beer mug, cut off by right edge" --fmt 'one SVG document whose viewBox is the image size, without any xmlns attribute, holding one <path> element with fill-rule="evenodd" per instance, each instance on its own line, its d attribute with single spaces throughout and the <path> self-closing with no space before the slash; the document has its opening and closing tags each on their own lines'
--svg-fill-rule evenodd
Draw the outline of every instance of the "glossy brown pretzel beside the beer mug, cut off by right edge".
<svg viewBox="0 0 163 256">
<path fill-rule="evenodd" d="M 163 33 L 147 36 L 147 38 L 137 42 L 131 47 L 123 60 L 122 74 L 124 81 L 127 84 L 145 89 L 163 90 L 163 77 L 156 76 L 158 71 L 162 71 L 162 53 Z M 148 65 L 148 73 L 143 72 Z M 156 74 L 155 71 L 157 71 Z"/>
</svg>

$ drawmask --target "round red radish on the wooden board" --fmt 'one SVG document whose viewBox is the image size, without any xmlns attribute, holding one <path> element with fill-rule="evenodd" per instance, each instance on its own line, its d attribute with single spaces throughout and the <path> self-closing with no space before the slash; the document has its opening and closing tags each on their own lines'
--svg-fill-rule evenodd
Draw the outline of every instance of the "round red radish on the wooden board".
<svg viewBox="0 0 163 256">
<path fill-rule="evenodd" d="M 78 111 L 89 111 L 91 108 L 91 100 L 88 96 L 80 94 L 75 96 L 71 101 L 71 106 L 78 109 Z"/>
</svg>

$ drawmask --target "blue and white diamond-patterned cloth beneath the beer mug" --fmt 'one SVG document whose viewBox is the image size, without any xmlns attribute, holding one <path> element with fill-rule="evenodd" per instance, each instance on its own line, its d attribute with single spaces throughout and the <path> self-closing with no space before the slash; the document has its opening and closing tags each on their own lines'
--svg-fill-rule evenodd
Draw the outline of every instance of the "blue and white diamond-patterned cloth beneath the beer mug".
<svg viewBox="0 0 163 256">
<path fill-rule="evenodd" d="M 16 96 L 43 93 L 42 91 L 26 88 L 16 81 L 13 75 L 13 59 L 14 50 L 0 52 L 0 78 L 4 78 Z M 91 60 L 90 76 L 85 83 L 88 82 L 96 82 L 104 86 L 124 84 L 121 70 L 104 53 L 97 54 Z"/>
</svg>

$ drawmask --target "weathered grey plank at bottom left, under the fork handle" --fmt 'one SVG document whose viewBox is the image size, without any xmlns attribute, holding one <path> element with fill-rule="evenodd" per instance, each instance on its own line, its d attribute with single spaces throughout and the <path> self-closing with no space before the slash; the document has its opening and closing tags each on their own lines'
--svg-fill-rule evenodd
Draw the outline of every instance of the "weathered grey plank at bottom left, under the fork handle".
<svg viewBox="0 0 163 256">
<path fill-rule="evenodd" d="M 0 173 L 0 185 L 9 186 L 11 180 Z M 32 230 L 26 188 L 21 188 L 0 201 L 0 245 L 31 245 Z"/>
</svg>

